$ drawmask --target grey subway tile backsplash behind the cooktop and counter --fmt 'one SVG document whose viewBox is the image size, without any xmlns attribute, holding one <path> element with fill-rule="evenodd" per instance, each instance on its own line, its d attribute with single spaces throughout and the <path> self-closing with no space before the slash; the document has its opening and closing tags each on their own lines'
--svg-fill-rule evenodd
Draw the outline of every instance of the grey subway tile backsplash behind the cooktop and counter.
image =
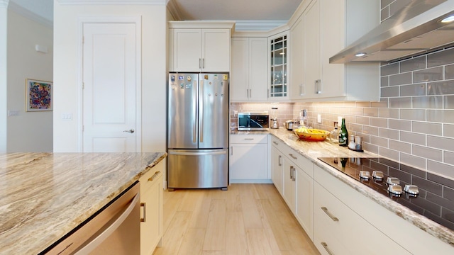
<svg viewBox="0 0 454 255">
<path fill-rule="evenodd" d="M 380 102 L 231 103 L 232 128 L 233 111 L 271 114 L 274 106 L 281 126 L 301 109 L 324 130 L 343 116 L 349 133 L 362 135 L 365 150 L 426 170 L 433 180 L 441 174 L 454 181 L 454 48 L 383 64 L 380 81 Z"/>
</svg>

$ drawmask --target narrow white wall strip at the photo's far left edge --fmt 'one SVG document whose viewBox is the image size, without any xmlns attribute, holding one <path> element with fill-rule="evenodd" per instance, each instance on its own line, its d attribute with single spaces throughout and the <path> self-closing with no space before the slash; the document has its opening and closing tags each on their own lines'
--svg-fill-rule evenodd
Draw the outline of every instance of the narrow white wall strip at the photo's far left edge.
<svg viewBox="0 0 454 255">
<path fill-rule="evenodd" d="M 6 31 L 8 3 L 0 0 L 0 153 L 6 152 Z"/>
</svg>

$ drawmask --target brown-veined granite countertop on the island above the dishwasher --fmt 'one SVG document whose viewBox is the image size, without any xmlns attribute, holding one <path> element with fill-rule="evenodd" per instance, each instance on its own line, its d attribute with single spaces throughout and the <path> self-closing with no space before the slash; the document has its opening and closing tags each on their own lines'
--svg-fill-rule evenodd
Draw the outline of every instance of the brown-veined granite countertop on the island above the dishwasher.
<svg viewBox="0 0 454 255">
<path fill-rule="evenodd" d="M 0 254 L 38 254 L 165 157 L 165 152 L 0 154 Z"/>
</svg>

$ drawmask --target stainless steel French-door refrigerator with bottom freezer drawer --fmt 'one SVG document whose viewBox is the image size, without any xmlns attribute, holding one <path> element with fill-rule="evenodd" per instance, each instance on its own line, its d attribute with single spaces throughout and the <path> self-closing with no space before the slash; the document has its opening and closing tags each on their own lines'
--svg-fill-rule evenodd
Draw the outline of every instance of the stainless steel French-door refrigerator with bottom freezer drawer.
<svg viewBox="0 0 454 255">
<path fill-rule="evenodd" d="M 228 74 L 170 73 L 167 188 L 228 186 Z"/>
</svg>

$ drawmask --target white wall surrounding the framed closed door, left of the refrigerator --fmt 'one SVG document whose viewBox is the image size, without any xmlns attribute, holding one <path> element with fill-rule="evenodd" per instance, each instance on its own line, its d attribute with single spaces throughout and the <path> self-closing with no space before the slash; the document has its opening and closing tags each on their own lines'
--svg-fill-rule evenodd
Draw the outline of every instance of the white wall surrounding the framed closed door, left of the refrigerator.
<svg viewBox="0 0 454 255">
<path fill-rule="evenodd" d="M 80 152 L 82 30 L 79 18 L 142 18 L 142 152 L 166 150 L 166 7 L 162 4 L 60 4 L 54 1 L 54 152 Z M 72 120 L 62 120 L 72 113 Z"/>
</svg>

